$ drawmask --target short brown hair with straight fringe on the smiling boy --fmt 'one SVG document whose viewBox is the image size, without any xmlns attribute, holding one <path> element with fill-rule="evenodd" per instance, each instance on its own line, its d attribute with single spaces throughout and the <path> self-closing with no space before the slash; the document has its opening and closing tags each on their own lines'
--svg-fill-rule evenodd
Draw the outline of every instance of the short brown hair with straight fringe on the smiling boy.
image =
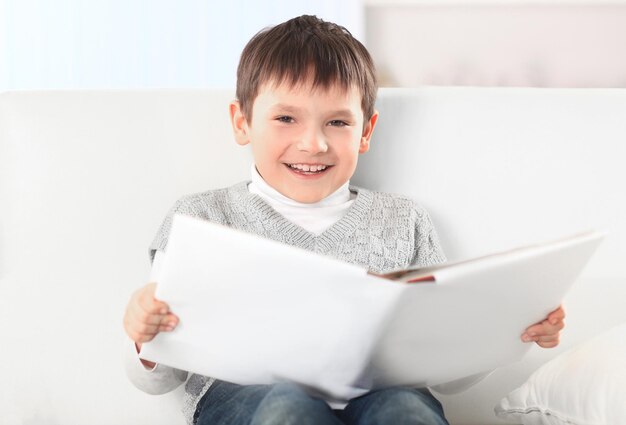
<svg viewBox="0 0 626 425">
<path fill-rule="evenodd" d="M 365 120 L 374 114 L 376 69 L 367 49 L 342 26 L 303 15 L 257 33 L 244 47 L 237 68 L 237 99 L 246 119 L 259 88 L 268 82 L 313 87 L 338 84 L 361 92 Z"/>
</svg>

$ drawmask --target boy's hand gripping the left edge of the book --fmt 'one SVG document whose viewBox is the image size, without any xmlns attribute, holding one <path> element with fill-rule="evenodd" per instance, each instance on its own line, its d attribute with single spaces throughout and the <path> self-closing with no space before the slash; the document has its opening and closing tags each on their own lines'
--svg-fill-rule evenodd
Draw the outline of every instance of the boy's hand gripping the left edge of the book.
<svg viewBox="0 0 626 425">
<path fill-rule="evenodd" d="M 155 290 L 154 282 L 138 289 L 126 307 L 124 330 L 135 341 L 137 350 L 159 332 L 171 332 L 178 324 L 178 317 L 170 312 L 169 306 L 154 298 Z"/>
</svg>

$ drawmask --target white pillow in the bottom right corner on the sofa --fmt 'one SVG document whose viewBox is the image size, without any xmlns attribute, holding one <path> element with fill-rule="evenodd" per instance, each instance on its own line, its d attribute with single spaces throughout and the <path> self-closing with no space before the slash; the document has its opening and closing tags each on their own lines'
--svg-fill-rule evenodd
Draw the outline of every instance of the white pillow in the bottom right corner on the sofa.
<svg viewBox="0 0 626 425">
<path fill-rule="evenodd" d="M 626 323 L 540 367 L 495 412 L 524 425 L 626 424 Z"/>
</svg>

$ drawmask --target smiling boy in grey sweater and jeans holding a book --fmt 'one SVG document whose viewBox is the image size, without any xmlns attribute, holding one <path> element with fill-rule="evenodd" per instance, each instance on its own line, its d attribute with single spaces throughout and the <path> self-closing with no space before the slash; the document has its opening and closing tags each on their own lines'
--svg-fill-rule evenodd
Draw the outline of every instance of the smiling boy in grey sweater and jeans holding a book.
<svg viewBox="0 0 626 425">
<path fill-rule="evenodd" d="M 153 276 L 165 255 L 174 213 L 377 272 L 444 261 L 423 209 L 402 197 L 349 186 L 378 120 L 375 97 L 372 59 L 342 27 L 301 16 L 253 37 L 237 71 L 237 100 L 230 104 L 237 143 L 252 147 L 251 181 L 178 201 L 151 245 Z M 187 379 L 187 372 L 140 360 L 141 344 L 179 321 L 154 299 L 154 289 L 154 283 L 144 286 L 127 307 L 125 329 L 135 342 L 127 371 L 135 385 L 155 394 L 186 380 L 183 410 L 189 423 L 447 424 L 427 389 L 372 391 L 333 410 L 297 385 Z M 523 339 L 554 346 L 562 327 L 558 309 L 527 329 Z"/>
</svg>

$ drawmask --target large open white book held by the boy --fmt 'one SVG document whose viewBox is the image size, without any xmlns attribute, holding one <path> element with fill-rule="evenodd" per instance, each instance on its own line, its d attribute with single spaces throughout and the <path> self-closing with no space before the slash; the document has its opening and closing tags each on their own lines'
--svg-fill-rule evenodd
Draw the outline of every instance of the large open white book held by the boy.
<svg viewBox="0 0 626 425">
<path fill-rule="evenodd" d="M 180 318 L 141 357 L 240 384 L 298 382 L 327 399 L 432 386 L 519 360 L 595 232 L 456 264 L 361 267 L 175 216 L 156 297 Z"/>
</svg>

